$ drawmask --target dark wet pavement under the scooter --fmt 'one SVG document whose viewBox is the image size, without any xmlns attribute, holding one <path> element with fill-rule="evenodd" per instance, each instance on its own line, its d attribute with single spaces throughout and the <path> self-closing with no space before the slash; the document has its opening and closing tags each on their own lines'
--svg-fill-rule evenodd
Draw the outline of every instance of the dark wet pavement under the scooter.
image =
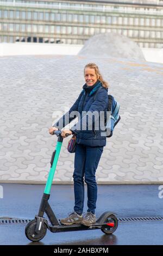
<svg viewBox="0 0 163 256">
<path fill-rule="evenodd" d="M 33 219 L 39 209 L 44 185 L 1 184 L 1 217 Z M 158 185 L 98 185 L 96 217 L 112 211 L 117 217 L 163 216 Z M 58 218 L 73 210 L 73 185 L 53 185 L 51 204 Z M 86 186 L 85 207 L 86 212 Z M 25 224 L 1 224 L 0 245 L 163 245 L 163 221 L 122 222 L 112 235 L 100 229 L 51 233 L 47 231 L 41 242 L 30 242 Z"/>
</svg>

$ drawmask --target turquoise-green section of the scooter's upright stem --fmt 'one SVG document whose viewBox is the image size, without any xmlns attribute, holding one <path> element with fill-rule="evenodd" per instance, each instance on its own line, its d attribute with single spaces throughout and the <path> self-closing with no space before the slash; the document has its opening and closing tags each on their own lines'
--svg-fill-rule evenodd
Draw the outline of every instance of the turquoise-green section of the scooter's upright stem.
<svg viewBox="0 0 163 256">
<path fill-rule="evenodd" d="M 45 191 L 44 191 L 45 194 L 50 194 L 50 192 L 51 192 L 53 177 L 54 177 L 55 169 L 57 166 L 57 162 L 58 162 L 58 158 L 59 158 L 59 154 L 60 154 L 60 150 L 61 150 L 61 145 L 62 145 L 62 142 L 58 141 L 57 145 L 55 147 L 55 156 L 54 156 L 54 160 L 53 160 L 51 169 L 49 170 L 49 175 L 48 175 L 48 179 L 47 179 L 46 187 L 45 187 Z"/>
</svg>

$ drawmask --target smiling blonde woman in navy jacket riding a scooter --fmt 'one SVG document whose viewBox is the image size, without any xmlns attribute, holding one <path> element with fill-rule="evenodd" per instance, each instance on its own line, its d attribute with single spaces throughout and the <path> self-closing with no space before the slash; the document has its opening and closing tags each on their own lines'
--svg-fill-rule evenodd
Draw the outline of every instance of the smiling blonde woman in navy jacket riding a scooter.
<svg viewBox="0 0 163 256">
<path fill-rule="evenodd" d="M 103 147 L 106 144 L 106 137 L 103 125 L 95 125 L 99 121 L 100 113 L 106 115 L 108 106 L 108 83 L 106 83 L 99 72 L 98 66 L 89 63 L 84 68 L 85 84 L 82 93 L 68 111 L 57 123 L 49 129 L 52 135 L 53 131 L 60 130 L 70 123 L 76 115 L 71 116 L 72 112 L 78 111 L 80 120 L 71 127 L 70 130 L 62 130 L 61 136 L 66 137 L 66 133 L 77 136 L 77 147 L 74 157 L 74 211 L 68 217 L 60 220 L 64 225 L 84 224 L 91 226 L 96 222 L 95 209 L 97 200 L 96 169 L 101 158 Z M 96 95 L 96 98 L 95 98 Z M 82 115 L 85 111 L 85 115 Z M 92 119 L 92 113 L 96 113 Z M 86 117 L 87 115 L 87 117 Z M 90 122 L 91 119 L 91 122 Z M 91 123 L 91 124 L 90 124 Z M 95 127 L 96 126 L 96 127 Z M 91 129 L 89 129 L 91 127 Z M 87 214 L 83 217 L 84 207 L 84 178 L 87 184 Z"/>
</svg>

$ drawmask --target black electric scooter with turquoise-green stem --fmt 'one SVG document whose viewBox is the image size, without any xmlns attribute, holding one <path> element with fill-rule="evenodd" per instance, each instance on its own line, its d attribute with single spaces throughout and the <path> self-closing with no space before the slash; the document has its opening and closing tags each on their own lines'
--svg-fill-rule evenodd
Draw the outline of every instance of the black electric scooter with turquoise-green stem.
<svg viewBox="0 0 163 256">
<path fill-rule="evenodd" d="M 101 229 L 105 234 L 112 234 L 118 227 L 118 220 L 115 214 L 112 212 L 104 212 L 91 227 L 87 227 L 83 224 L 72 224 L 72 225 L 62 225 L 57 217 L 55 216 L 51 206 L 48 203 L 50 197 L 51 186 L 53 182 L 53 177 L 55 173 L 55 168 L 57 166 L 61 145 L 63 137 L 61 136 L 61 131 L 53 131 L 54 135 L 57 135 L 58 141 L 53 151 L 51 157 L 51 169 L 49 170 L 48 179 L 45 186 L 45 191 L 42 196 L 39 214 L 35 216 L 35 219 L 30 221 L 26 225 L 25 234 L 30 241 L 40 241 L 46 235 L 47 229 L 53 233 L 66 232 L 66 231 L 79 231 L 79 230 L 92 230 Z M 66 137 L 69 134 L 66 134 Z M 43 215 L 46 213 L 49 222 Z"/>
</svg>

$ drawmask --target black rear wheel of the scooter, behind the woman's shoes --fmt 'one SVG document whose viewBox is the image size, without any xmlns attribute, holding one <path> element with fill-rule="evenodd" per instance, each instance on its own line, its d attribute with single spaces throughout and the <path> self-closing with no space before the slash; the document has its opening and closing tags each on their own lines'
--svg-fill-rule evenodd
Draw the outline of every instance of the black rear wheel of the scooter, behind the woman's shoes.
<svg viewBox="0 0 163 256">
<path fill-rule="evenodd" d="M 117 217 L 115 215 L 109 215 L 106 217 L 104 223 L 108 223 L 110 225 L 108 225 L 107 227 L 103 227 L 101 228 L 101 231 L 105 234 L 112 234 L 114 233 L 114 231 L 117 229 L 118 227 L 118 220 Z"/>
</svg>

